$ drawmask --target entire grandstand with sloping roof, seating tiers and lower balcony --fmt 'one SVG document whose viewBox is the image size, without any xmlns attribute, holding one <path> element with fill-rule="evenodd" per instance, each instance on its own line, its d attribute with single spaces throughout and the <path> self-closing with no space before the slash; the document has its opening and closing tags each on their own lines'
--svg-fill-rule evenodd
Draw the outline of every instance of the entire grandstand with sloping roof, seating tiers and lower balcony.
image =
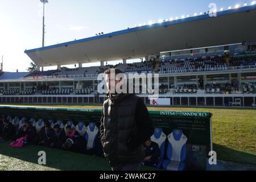
<svg viewBox="0 0 256 182">
<path fill-rule="evenodd" d="M 0 73 L 0 102 L 102 103 L 98 74 L 113 65 L 125 73 L 159 73 L 159 98 L 146 104 L 254 107 L 256 102 L 256 6 L 168 20 L 110 34 L 26 50 L 32 73 Z M 142 63 L 126 60 L 144 57 Z M 101 62 L 100 67 L 82 67 Z M 77 64 L 75 69 L 61 65 Z M 57 70 L 43 67 L 57 65 Z M 41 67 L 41 71 L 40 71 Z"/>
</svg>

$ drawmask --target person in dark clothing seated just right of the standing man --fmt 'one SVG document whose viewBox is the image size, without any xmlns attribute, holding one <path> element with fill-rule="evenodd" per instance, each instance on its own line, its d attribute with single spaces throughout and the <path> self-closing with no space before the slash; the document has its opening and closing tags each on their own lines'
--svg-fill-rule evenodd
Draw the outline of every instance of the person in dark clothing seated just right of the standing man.
<svg viewBox="0 0 256 182">
<path fill-rule="evenodd" d="M 145 166 L 155 167 L 159 163 L 160 148 L 157 143 L 148 139 L 144 143 L 145 159 L 143 161 Z"/>
</svg>

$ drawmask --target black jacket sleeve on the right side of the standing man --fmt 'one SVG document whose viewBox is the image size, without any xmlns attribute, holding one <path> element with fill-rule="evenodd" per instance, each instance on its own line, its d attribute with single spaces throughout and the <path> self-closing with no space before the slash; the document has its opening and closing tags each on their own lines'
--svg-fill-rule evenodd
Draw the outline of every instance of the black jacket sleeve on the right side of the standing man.
<svg viewBox="0 0 256 182">
<path fill-rule="evenodd" d="M 154 134 L 154 127 L 152 125 L 150 114 L 141 98 L 137 101 L 135 122 L 137 123 L 138 129 L 135 131 L 134 135 L 131 136 L 131 142 L 127 144 L 127 147 L 131 151 L 141 146 L 152 136 L 152 134 Z"/>
</svg>

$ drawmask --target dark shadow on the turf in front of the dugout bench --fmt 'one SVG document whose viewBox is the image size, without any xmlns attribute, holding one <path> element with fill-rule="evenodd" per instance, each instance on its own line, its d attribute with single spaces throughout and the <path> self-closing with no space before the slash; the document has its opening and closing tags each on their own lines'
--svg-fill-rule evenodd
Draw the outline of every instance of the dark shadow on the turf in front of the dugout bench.
<svg viewBox="0 0 256 182">
<path fill-rule="evenodd" d="M 0 154 L 38 164 L 38 152 L 46 152 L 46 167 L 64 171 L 109 171 L 110 165 L 105 158 L 74 152 L 57 150 L 41 146 L 24 146 L 22 148 L 9 147 L 11 141 L 0 143 Z M 32 170 L 32 168 L 31 168 Z M 155 168 L 143 167 L 142 170 L 155 170 Z"/>
</svg>

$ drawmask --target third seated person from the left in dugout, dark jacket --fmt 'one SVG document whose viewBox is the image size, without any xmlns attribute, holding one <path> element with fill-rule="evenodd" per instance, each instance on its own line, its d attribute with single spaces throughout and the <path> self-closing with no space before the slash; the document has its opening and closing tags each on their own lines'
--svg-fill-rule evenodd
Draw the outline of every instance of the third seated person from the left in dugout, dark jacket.
<svg viewBox="0 0 256 182">
<path fill-rule="evenodd" d="M 54 130 L 51 128 L 49 123 L 46 123 L 44 127 L 39 131 L 38 135 L 36 135 L 35 144 L 44 147 L 51 147 L 51 143 L 54 138 Z"/>
</svg>

